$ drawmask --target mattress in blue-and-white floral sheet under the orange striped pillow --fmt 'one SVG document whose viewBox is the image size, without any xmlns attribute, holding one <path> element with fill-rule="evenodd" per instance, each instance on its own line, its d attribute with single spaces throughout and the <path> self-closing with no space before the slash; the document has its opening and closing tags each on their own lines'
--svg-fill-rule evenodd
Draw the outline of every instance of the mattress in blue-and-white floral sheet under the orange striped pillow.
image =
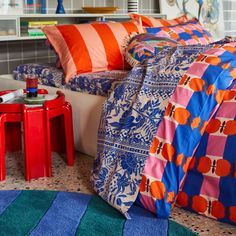
<svg viewBox="0 0 236 236">
<path fill-rule="evenodd" d="M 25 81 L 27 77 L 37 77 L 41 85 L 104 97 L 107 97 L 127 74 L 128 71 L 124 70 L 87 73 L 76 75 L 65 84 L 63 70 L 51 65 L 22 64 L 13 71 L 16 80 Z"/>
</svg>

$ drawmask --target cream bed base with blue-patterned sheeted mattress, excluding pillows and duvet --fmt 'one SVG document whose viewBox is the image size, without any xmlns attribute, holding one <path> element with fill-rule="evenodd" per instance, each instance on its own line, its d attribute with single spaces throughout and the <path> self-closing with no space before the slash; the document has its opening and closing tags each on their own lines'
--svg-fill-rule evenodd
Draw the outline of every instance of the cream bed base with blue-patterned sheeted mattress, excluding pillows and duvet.
<svg viewBox="0 0 236 236">
<path fill-rule="evenodd" d="M 16 67 L 13 76 L 0 76 L 0 87 L 4 89 L 25 88 L 27 76 L 39 78 L 39 88 L 49 93 L 63 91 L 73 107 L 75 149 L 96 156 L 97 130 L 103 102 L 120 83 L 128 71 L 112 71 L 76 76 L 65 84 L 62 69 L 52 65 L 22 64 Z"/>
</svg>

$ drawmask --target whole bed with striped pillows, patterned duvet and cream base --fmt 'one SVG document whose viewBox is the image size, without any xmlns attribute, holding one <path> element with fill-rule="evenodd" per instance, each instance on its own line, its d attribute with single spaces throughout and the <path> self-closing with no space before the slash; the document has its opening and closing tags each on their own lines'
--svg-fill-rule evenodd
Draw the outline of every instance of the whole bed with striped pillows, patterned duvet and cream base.
<svg viewBox="0 0 236 236">
<path fill-rule="evenodd" d="M 40 83 L 53 90 L 63 87 L 74 109 L 78 149 L 96 154 L 93 187 L 127 218 L 134 202 L 161 218 L 178 204 L 235 224 L 236 43 L 213 42 L 195 18 L 141 20 L 149 34 L 141 34 L 137 22 L 46 28 L 68 83 L 58 83 L 61 75 L 51 80 L 58 69 L 38 65 L 18 67 L 15 78 L 38 73 Z M 118 28 L 137 35 L 124 45 L 121 34 L 115 37 Z M 96 40 L 91 41 L 94 30 Z M 106 41 L 111 33 L 114 44 Z M 94 79 L 87 83 L 85 70 L 99 78 L 94 71 L 125 68 L 122 47 L 132 57 L 132 70 L 119 72 L 117 81 L 110 79 L 114 86 L 106 80 L 106 86 Z M 72 76 L 76 73 L 81 78 Z"/>
</svg>

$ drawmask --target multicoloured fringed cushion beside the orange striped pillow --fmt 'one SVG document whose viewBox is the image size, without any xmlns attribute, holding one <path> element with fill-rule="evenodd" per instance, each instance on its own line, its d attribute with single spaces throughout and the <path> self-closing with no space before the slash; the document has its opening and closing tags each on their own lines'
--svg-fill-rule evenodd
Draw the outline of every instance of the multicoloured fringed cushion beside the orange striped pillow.
<svg viewBox="0 0 236 236">
<path fill-rule="evenodd" d="M 154 57 L 162 49 L 177 46 L 175 40 L 156 37 L 153 34 L 138 34 L 134 36 L 125 49 L 125 60 L 131 67 L 139 65 L 144 60 Z"/>
</svg>

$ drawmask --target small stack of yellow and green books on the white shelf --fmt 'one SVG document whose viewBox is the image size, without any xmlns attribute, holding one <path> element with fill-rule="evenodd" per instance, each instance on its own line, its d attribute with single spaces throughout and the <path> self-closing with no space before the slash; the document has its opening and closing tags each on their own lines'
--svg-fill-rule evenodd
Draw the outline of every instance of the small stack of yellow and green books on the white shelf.
<svg viewBox="0 0 236 236">
<path fill-rule="evenodd" d="M 42 27 L 49 25 L 57 25 L 57 21 L 29 21 L 28 36 L 44 36 Z"/>
</svg>

